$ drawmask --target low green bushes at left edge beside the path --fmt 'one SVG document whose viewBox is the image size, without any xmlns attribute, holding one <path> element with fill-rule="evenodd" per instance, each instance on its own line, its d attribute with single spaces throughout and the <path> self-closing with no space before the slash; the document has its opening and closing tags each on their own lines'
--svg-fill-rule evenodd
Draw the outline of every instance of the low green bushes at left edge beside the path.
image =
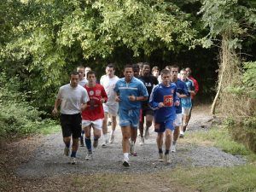
<svg viewBox="0 0 256 192">
<path fill-rule="evenodd" d="M 43 112 L 26 102 L 26 94 L 19 92 L 20 79 L 0 75 L 0 137 L 15 137 L 37 132 L 53 125 L 49 119 L 42 120 Z"/>
</svg>

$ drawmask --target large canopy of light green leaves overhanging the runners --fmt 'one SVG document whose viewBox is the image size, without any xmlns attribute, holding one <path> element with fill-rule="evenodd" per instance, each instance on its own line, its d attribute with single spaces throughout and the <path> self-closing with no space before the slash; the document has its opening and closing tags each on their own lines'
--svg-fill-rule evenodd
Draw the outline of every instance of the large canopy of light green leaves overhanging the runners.
<svg viewBox="0 0 256 192">
<path fill-rule="evenodd" d="M 5 2 L 9 6 L 15 10 L 12 1 Z M 134 56 L 178 51 L 196 35 L 189 15 L 165 1 L 32 0 L 18 7 L 22 17 L 10 26 L 12 37 L 1 48 L 0 62 L 6 73 L 20 74 L 41 108 L 52 105 L 57 88 L 68 82 L 66 74 L 81 63 L 101 68 L 101 61 L 122 47 Z"/>
</svg>

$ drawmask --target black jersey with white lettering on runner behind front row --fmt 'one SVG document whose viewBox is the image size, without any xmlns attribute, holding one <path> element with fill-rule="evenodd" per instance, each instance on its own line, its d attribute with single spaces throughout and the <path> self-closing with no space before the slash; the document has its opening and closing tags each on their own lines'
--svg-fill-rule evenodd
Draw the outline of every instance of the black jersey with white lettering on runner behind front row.
<svg viewBox="0 0 256 192">
<path fill-rule="evenodd" d="M 150 96 L 153 87 L 158 84 L 158 80 L 153 75 L 140 76 L 138 79 L 143 81 L 143 84 L 148 90 L 148 96 Z M 147 101 L 142 102 L 142 108 L 148 108 L 149 97 Z"/>
</svg>

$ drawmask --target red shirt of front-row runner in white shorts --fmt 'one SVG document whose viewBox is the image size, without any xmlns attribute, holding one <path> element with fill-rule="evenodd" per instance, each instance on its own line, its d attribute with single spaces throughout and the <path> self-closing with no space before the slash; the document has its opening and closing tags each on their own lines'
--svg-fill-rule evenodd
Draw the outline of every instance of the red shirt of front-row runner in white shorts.
<svg viewBox="0 0 256 192">
<path fill-rule="evenodd" d="M 87 102 L 87 107 L 82 112 L 82 119 L 84 120 L 97 120 L 104 118 L 104 111 L 101 99 L 105 102 L 108 101 L 108 96 L 104 90 L 102 84 L 96 84 L 95 87 L 88 87 L 86 84 L 84 88 L 88 92 L 90 101 Z"/>
</svg>

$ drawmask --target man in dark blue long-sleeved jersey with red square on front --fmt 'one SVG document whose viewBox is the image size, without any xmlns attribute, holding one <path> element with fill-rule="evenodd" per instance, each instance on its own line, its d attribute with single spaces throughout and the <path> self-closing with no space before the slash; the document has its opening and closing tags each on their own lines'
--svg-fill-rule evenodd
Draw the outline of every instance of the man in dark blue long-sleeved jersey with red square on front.
<svg viewBox="0 0 256 192">
<path fill-rule="evenodd" d="M 176 118 L 176 108 L 179 99 L 176 95 L 177 86 L 171 83 L 171 73 L 168 69 L 163 69 L 160 73 L 162 83 L 156 85 L 152 90 L 149 104 L 154 108 L 154 131 L 157 132 L 156 143 L 159 149 L 160 161 L 166 164 L 171 163 L 170 148 L 174 132 L 173 122 Z M 166 133 L 166 152 L 163 155 L 162 145 L 164 133 Z"/>
</svg>

